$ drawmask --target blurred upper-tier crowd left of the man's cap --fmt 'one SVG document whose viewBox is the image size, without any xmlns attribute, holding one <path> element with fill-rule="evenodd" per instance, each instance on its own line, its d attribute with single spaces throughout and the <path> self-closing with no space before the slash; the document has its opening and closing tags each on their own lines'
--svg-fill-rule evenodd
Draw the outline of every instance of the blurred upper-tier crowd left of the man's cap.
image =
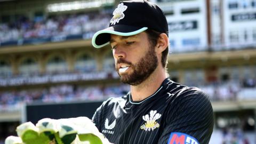
<svg viewBox="0 0 256 144">
<path fill-rule="evenodd" d="M 107 13 L 57 15 L 30 20 L 21 17 L 15 22 L 0 23 L 0 43 L 29 38 L 77 35 L 107 27 Z"/>
</svg>

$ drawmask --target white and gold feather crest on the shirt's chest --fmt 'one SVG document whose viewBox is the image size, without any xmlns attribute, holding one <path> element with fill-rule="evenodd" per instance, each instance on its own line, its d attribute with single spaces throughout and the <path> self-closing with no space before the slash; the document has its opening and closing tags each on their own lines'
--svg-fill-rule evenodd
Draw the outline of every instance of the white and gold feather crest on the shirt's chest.
<svg viewBox="0 0 256 144">
<path fill-rule="evenodd" d="M 140 126 L 140 129 L 145 131 L 154 131 L 160 125 L 156 122 L 157 119 L 161 117 L 161 114 L 158 114 L 156 110 L 151 110 L 149 115 L 142 116 L 142 119 L 146 121 L 145 124 Z"/>
</svg>

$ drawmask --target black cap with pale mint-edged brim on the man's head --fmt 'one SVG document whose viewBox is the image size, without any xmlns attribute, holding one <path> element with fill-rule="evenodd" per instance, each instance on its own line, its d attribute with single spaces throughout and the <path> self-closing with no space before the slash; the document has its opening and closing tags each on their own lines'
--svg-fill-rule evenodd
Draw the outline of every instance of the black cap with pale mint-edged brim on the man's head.
<svg viewBox="0 0 256 144">
<path fill-rule="evenodd" d="M 147 29 L 168 36 L 168 24 L 159 6 L 146 0 L 122 1 L 113 12 L 109 27 L 93 35 L 92 45 L 100 48 L 109 44 L 111 34 L 132 36 Z"/>
</svg>

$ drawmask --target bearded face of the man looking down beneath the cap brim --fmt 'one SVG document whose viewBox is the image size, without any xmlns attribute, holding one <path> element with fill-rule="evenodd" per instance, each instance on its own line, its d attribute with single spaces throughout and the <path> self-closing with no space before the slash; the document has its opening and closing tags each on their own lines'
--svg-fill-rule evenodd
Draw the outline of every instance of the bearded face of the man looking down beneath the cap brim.
<svg viewBox="0 0 256 144">
<path fill-rule="evenodd" d="M 111 35 L 116 71 L 123 83 L 139 85 L 158 65 L 154 47 L 146 33 L 123 37 Z"/>
</svg>

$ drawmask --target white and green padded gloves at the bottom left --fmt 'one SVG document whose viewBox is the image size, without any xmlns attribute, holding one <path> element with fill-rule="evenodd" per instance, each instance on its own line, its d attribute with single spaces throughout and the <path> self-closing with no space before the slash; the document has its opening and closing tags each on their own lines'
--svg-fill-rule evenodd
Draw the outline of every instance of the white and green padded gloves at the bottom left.
<svg viewBox="0 0 256 144">
<path fill-rule="evenodd" d="M 36 126 L 23 123 L 16 131 L 18 137 L 7 137 L 5 144 L 110 144 L 87 117 L 44 118 Z"/>
</svg>

